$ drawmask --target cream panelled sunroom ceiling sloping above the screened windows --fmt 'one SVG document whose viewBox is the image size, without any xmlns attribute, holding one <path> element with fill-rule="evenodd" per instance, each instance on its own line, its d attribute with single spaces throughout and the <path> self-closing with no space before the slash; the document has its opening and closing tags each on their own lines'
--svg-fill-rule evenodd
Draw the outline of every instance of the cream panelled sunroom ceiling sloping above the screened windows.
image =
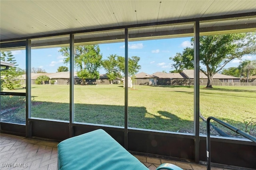
<svg viewBox="0 0 256 170">
<path fill-rule="evenodd" d="M 160 37 L 167 35 L 193 35 L 193 18 L 250 13 L 249 19 L 202 21 L 200 29 L 205 34 L 218 31 L 230 31 L 229 25 L 237 25 L 236 29 L 255 31 L 255 0 L 51 0 L 51 1 L 0 1 L 0 40 L 22 40 L 38 38 L 45 35 L 61 35 L 62 33 L 80 33 L 75 36 L 77 43 L 90 40 L 120 41 L 124 37 L 125 25 L 133 25 L 129 37 L 150 39 L 158 32 Z M 188 21 L 185 25 L 166 24 L 152 27 L 136 27 L 144 23 L 165 21 Z M 90 30 L 116 28 L 116 31 L 100 31 L 89 34 Z M 225 28 L 225 30 L 222 30 Z M 232 29 L 234 29 L 232 27 Z M 156 33 L 155 33 L 156 34 Z M 171 36 L 170 36 L 171 37 Z M 96 39 L 95 39 L 96 38 Z M 80 39 L 80 40 L 79 40 Z M 49 39 L 48 39 L 49 40 Z M 49 42 L 47 40 L 47 42 Z M 44 43 L 43 39 L 34 43 Z M 65 36 L 59 41 L 68 41 Z M 76 42 L 75 41 L 75 42 Z M 130 40 L 129 40 L 130 41 Z M 87 41 L 88 42 L 88 41 Z"/>
</svg>

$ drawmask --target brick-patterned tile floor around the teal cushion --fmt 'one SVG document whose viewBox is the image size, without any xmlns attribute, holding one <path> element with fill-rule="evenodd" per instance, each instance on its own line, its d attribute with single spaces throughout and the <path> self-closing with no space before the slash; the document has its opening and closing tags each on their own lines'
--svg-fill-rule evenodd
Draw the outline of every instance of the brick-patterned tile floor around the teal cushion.
<svg viewBox="0 0 256 170">
<path fill-rule="evenodd" d="M 1 170 L 56 170 L 58 143 L 27 139 L 0 133 Z M 184 170 L 206 170 L 206 166 L 134 155 L 149 170 L 156 170 L 162 163 L 171 163 Z M 9 167 L 6 167 L 9 166 Z M 12 167 L 10 167 L 12 166 Z M 15 167 L 16 166 L 16 167 Z M 212 167 L 212 170 L 226 170 Z"/>
</svg>

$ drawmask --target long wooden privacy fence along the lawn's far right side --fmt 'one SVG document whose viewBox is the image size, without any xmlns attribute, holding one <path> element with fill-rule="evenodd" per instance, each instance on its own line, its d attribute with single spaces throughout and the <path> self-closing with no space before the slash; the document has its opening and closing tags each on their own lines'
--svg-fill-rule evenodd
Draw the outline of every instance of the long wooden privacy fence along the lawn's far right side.
<svg viewBox="0 0 256 170">
<path fill-rule="evenodd" d="M 149 79 L 136 79 L 135 85 L 150 85 Z M 194 86 L 194 79 L 175 78 L 175 79 L 157 79 L 154 85 L 171 85 L 171 86 Z M 207 79 L 200 79 L 200 86 L 206 86 Z M 256 80 L 253 82 L 221 82 L 219 79 L 212 81 L 212 86 L 256 86 Z"/>
</svg>

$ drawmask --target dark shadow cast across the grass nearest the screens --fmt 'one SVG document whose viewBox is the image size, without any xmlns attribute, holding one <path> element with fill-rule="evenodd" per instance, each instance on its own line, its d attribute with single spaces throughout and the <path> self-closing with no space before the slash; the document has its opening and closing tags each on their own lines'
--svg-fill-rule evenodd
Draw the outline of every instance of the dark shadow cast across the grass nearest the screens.
<svg viewBox="0 0 256 170">
<path fill-rule="evenodd" d="M 69 104 L 54 102 L 36 102 L 32 105 L 32 117 L 69 121 Z M 25 108 L 18 108 L 5 116 L 4 122 L 25 124 Z M 3 115 L 1 115 L 1 118 Z M 245 117 L 246 118 L 246 117 Z M 124 127 L 124 106 L 74 104 L 74 121 Z M 232 119 L 222 119 L 244 130 L 244 123 Z M 220 127 L 217 123 L 214 123 Z M 202 124 L 203 126 L 203 124 Z M 148 113 L 146 107 L 128 107 L 128 127 L 193 133 L 194 121 L 184 120 L 167 111 L 158 114 Z M 203 128 L 206 135 L 206 126 Z M 223 129 L 220 127 L 220 129 Z M 228 132 L 227 132 L 228 133 Z M 229 133 L 228 133 L 229 134 Z"/>
</svg>

